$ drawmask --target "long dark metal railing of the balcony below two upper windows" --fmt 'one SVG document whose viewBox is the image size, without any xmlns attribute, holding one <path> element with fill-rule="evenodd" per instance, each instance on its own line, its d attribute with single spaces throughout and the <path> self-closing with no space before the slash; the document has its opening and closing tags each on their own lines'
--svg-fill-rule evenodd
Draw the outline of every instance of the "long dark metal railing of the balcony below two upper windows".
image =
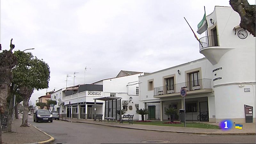
<svg viewBox="0 0 256 144">
<path fill-rule="evenodd" d="M 155 87 L 154 96 L 162 95 L 162 94 L 170 94 L 170 93 L 180 93 L 181 88 L 186 88 L 187 91 L 212 89 L 211 81 L 212 79 L 203 78 L 195 81 L 173 84 L 169 87 L 167 86 Z"/>
</svg>

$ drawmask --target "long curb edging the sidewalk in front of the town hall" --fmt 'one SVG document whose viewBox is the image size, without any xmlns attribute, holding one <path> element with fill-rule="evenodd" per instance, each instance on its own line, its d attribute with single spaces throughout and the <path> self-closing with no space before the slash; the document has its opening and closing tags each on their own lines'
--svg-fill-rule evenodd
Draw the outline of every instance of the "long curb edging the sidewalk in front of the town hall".
<svg viewBox="0 0 256 144">
<path fill-rule="evenodd" d="M 85 124 L 96 124 L 96 123 L 88 123 L 88 122 L 72 122 L 68 120 L 63 120 L 66 122 L 71 123 L 85 123 Z M 210 132 L 181 132 L 181 131 L 165 131 L 165 130 L 155 130 L 155 129 L 144 129 L 144 128 L 136 128 L 136 127 L 125 127 L 125 126 L 116 126 L 116 125 L 108 125 L 108 124 L 96 124 L 96 125 L 103 125 L 103 126 L 111 126 L 111 127 L 118 127 L 118 128 L 126 128 L 126 129 L 135 129 L 135 130 L 143 130 L 143 131 L 155 131 L 155 132 L 172 132 L 172 133 L 186 133 L 186 134 L 207 134 L 207 135 L 255 135 L 253 132 L 246 132 L 246 133 L 210 133 Z"/>
</svg>

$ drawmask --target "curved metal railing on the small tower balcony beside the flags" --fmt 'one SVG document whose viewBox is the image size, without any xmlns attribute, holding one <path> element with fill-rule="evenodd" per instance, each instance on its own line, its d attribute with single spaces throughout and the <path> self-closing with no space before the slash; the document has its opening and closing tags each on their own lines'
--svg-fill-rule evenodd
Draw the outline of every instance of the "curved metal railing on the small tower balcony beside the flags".
<svg viewBox="0 0 256 144">
<path fill-rule="evenodd" d="M 203 48 L 206 48 L 206 47 L 210 47 L 210 46 L 219 46 L 218 45 L 218 40 L 217 40 L 216 37 L 214 37 L 214 36 L 204 36 L 204 37 L 199 39 L 200 50 L 203 49 Z"/>
</svg>

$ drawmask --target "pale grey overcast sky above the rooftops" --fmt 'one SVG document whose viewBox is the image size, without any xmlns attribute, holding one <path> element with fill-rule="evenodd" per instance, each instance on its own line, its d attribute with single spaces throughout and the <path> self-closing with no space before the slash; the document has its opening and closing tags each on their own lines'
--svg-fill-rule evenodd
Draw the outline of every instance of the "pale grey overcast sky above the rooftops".
<svg viewBox="0 0 256 144">
<path fill-rule="evenodd" d="M 255 4 L 254 0 L 248 0 Z M 48 63 L 48 92 L 115 77 L 120 70 L 154 72 L 203 58 L 188 24 L 229 0 L 1 0 L 2 49 L 26 52 Z M 197 34 L 200 38 L 201 36 Z M 45 95 L 34 91 L 30 100 Z"/>
</svg>

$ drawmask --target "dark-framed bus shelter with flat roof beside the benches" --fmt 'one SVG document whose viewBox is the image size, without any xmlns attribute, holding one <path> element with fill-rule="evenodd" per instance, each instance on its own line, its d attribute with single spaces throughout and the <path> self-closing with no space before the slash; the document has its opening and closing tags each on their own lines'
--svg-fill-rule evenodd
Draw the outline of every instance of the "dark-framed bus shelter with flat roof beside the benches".
<svg viewBox="0 0 256 144">
<path fill-rule="evenodd" d="M 105 109 L 104 109 L 104 119 L 112 119 L 112 120 L 119 120 L 122 118 L 122 105 L 120 97 L 103 97 L 103 98 L 96 98 L 94 100 L 94 116 L 96 116 L 96 100 L 105 101 Z M 119 111 L 119 114 L 118 112 Z"/>
</svg>

